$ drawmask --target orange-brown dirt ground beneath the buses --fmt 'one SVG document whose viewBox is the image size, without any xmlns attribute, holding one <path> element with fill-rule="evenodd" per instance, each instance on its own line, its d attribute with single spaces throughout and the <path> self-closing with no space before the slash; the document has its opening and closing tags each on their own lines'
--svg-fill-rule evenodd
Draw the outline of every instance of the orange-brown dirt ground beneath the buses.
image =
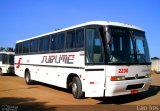
<svg viewBox="0 0 160 111">
<path fill-rule="evenodd" d="M 43 83 L 26 85 L 23 78 L 7 74 L 0 77 L 0 105 L 2 111 L 7 111 L 7 109 L 14 111 L 58 111 L 59 109 L 71 111 L 77 107 L 79 110 L 84 110 L 82 108 L 95 110 L 94 106 L 105 111 L 115 106 L 116 109 L 125 109 L 121 106 L 127 106 L 127 108 L 131 107 L 132 110 L 141 110 L 139 109 L 141 106 L 149 109 L 150 105 L 156 107 L 156 110 L 152 111 L 160 111 L 160 74 L 152 74 L 152 85 L 147 92 L 112 98 L 85 98 L 79 100 L 74 99 L 66 89 Z"/>
</svg>

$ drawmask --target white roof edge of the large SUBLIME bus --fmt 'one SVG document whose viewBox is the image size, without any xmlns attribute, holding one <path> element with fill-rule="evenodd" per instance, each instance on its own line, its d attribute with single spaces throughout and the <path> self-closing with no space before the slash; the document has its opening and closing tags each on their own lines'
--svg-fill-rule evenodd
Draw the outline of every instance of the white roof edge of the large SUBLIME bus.
<svg viewBox="0 0 160 111">
<path fill-rule="evenodd" d="M 144 31 L 143 29 L 141 29 L 137 26 L 133 26 L 133 25 L 130 25 L 130 24 L 124 24 L 124 23 L 120 23 L 120 22 L 91 21 L 91 22 L 86 22 L 86 23 L 83 23 L 83 24 L 71 26 L 71 27 L 68 27 L 68 28 L 63 28 L 63 29 L 60 29 L 60 30 L 57 30 L 57 31 L 52 31 L 52 32 L 49 32 L 49 33 L 41 34 L 41 35 L 29 38 L 29 39 L 19 40 L 16 43 L 27 41 L 27 40 L 32 40 L 32 39 L 35 39 L 35 38 L 38 38 L 38 37 L 47 36 L 47 35 L 58 33 L 58 32 L 63 32 L 63 31 L 66 31 L 66 30 L 71 30 L 71 29 L 74 29 L 74 28 L 88 26 L 88 25 L 119 26 L 119 27 L 126 27 L 126 28 L 132 28 L 132 29 L 137 29 L 137 30 Z"/>
</svg>

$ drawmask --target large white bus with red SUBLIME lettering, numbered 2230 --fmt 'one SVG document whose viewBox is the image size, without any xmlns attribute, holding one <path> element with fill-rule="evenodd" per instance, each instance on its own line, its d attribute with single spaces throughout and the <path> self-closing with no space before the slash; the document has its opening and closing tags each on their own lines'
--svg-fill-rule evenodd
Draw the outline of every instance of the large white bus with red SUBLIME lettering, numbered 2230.
<svg viewBox="0 0 160 111">
<path fill-rule="evenodd" d="M 73 97 L 147 91 L 151 62 L 143 29 L 91 21 L 16 42 L 15 73 L 27 84 L 70 89 Z"/>
</svg>

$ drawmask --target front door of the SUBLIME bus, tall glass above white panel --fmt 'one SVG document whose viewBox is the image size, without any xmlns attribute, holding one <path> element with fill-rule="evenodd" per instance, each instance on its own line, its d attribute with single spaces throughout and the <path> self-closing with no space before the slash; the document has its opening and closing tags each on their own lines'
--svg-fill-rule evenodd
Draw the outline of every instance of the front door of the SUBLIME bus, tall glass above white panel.
<svg viewBox="0 0 160 111">
<path fill-rule="evenodd" d="M 101 97 L 105 87 L 104 47 L 98 28 L 86 29 L 85 96 Z"/>
</svg>

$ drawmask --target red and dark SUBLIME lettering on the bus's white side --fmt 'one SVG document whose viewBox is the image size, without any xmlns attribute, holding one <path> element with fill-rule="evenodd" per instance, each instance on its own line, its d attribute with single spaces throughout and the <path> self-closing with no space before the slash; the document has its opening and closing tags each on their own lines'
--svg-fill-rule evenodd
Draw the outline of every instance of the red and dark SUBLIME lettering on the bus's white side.
<svg viewBox="0 0 160 111">
<path fill-rule="evenodd" d="M 41 63 L 73 64 L 75 55 L 50 55 L 43 56 Z"/>
</svg>

